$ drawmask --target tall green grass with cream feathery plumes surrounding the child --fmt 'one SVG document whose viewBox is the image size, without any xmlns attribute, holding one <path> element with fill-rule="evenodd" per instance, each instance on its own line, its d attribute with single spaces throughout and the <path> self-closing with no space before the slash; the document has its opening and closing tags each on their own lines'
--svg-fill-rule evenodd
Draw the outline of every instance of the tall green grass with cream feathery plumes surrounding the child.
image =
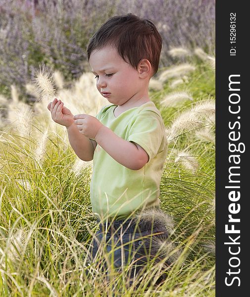
<svg viewBox="0 0 250 297">
<path fill-rule="evenodd" d="M 157 87 L 150 88 L 166 134 L 171 134 L 160 182 L 161 208 L 174 221 L 170 242 L 164 245 L 165 260 L 173 259 L 166 280 L 155 284 L 160 264 L 153 261 L 132 285 L 126 276 L 129 267 L 117 273 L 112 261 L 109 278 L 104 277 L 96 264 L 106 253 L 87 265 L 87 250 L 98 230 L 90 203 L 92 162 L 76 158 L 66 131 L 46 110 L 50 98 L 41 99 L 36 89 L 37 101 L 22 121 L 18 118 L 26 104 L 20 104 L 18 91 L 10 107 L 2 100 L 0 296 L 215 296 L 214 70 L 204 59 L 189 72 L 178 70 L 160 82 L 160 75 L 170 70 L 159 69 Z M 176 79 L 182 82 L 175 92 L 188 92 L 189 97 L 172 97 L 164 105 L 161 102 L 173 96 Z M 70 87 L 61 83 L 56 96 L 73 113 L 96 115 L 108 104 L 88 73 Z M 178 104 L 171 103 L 175 100 Z M 188 117 L 186 126 L 178 127 L 183 115 L 193 113 L 198 125 Z"/>
</svg>

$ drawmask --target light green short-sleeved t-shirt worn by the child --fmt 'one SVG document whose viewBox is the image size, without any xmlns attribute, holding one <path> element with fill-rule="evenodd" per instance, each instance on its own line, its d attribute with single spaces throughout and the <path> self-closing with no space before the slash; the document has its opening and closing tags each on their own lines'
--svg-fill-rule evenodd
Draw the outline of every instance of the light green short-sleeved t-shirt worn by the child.
<svg viewBox="0 0 250 297">
<path fill-rule="evenodd" d="M 152 101 L 114 116 L 117 105 L 104 106 L 96 118 L 122 139 L 146 150 L 149 161 L 131 170 L 97 145 L 93 158 L 90 198 L 98 218 L 124 219 L 143 206 L 158 207 L 159 184 L 167 155 L 167 139 L 159 110 Z"/>
</svg>

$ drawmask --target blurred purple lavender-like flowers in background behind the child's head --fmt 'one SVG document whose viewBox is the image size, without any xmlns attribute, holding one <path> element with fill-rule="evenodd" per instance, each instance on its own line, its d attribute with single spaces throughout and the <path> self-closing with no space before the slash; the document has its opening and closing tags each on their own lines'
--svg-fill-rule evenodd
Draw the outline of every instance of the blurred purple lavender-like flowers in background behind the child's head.
<svg viewBox="0 0 250 297">
<path fill-rule="evenodd" d="M 40 63 L 60 70 L 68 80 L 80 77 L 89 70 L 89 38 L 107 18 L 128 12 L 157 25 L 163 39 L 160 67 L 190 60 L 189 55 L 174 56 L 173 47 L 200 47 L 213 56 L 214 0 L 1 0 L 1 93 L 9 94 L 15 84 L 23 99 L 34 100 L 23 86 Z"/>
</svg>

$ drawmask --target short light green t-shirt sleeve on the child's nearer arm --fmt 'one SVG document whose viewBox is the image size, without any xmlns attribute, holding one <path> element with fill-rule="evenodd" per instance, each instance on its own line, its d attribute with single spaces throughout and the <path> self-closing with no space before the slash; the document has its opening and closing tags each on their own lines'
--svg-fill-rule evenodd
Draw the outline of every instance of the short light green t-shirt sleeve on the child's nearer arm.
<svg viewBox="0 0 250 297">
<path fill-rule="evenodd" d="M 132 120 L 129 129 L 129 142 L 144 148 L 149 161 L 157 154 L 163 139 L 162 119 L 153 111 L 142 111 Z"/>
</svg>

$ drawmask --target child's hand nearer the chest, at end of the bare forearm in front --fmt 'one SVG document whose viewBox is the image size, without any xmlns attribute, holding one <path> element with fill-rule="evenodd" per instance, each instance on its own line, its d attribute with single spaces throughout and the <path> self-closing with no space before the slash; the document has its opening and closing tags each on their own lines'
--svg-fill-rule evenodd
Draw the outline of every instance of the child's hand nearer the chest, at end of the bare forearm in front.
<svg viewBox="0 0 250 297">
<path fill-rule="evenodd" d="M 73 119 L 80 133 L 92 139 L 95 139 L 99 129 L 103 126 L 97 118 L 89 114 L 76 114 Z"/>
</svg>

